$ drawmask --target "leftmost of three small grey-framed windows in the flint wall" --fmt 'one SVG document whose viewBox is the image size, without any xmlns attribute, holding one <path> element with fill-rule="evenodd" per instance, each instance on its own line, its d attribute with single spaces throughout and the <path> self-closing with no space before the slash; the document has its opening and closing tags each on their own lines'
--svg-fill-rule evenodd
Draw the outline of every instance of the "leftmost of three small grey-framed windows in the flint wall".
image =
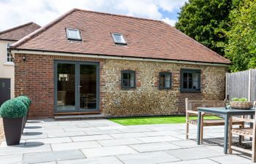
<svg viewBox="0 0 256 164">
<path fill-rule="evenodd" d="M 121 87 L 135 88 L 135 71 L 124 70 L 121 71 Z"/>
</svg>

